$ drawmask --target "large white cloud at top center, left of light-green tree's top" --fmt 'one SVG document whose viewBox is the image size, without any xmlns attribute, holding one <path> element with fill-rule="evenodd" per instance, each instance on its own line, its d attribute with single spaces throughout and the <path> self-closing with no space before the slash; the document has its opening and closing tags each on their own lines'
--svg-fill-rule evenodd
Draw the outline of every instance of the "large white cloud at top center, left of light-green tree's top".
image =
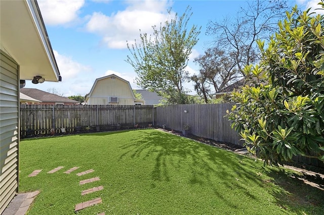
<svg viewBox="0 0 324 215">
<path fill-rule="evenodd" d="M 111 16 L 95 12 L 86 25 L 86 30 L 102 36 L 102 42 L 109 48 L 126 48 L 127 42 L 134 43 L 142 33 L 152 33 L 152 26 L 168 19 L 167 8 L 171 2 L 127 1 L 129 6 Z"/>
</svg>

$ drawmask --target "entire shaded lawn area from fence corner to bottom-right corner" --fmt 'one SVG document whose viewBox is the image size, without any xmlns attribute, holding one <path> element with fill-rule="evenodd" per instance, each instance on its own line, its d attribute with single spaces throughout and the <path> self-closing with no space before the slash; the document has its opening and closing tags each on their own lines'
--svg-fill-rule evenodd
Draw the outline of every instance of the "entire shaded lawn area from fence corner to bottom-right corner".
<svg viewBox="0 0 324 215">
<path fill-rule="evenodd" d="M 248 188 L 250 183 L 268 188 L 276 204 L 282 208 L 297 214 L 324 214 L 322 204 L 324 191 L 304 183 L 305 179 L 324 188 L 323 180 L 316 176 L 299 175 L 282 168 L 257 167 L 253 160 L 248 162 L 248 158 L 244 156 L 224 150 L 215 150 L 211 146 L 196 144 L 189 139 L 163 132 L 142 133 L 138 138 L 134 138 L 132 143 L 120 147 L 128 149 L 120 158 L 126 154 L 131 157 L 143 155 L 145 157 L 149 153 L 156 153 L 155 166 L 151 173 L 152 179 L 156 181 L 171 180 L 167 168 L 167 163 L 172 162 L 172 159 L 168 159 L 170 156 L 179 158 L 178 163 L 173 161 L 171 164 L 174 168 L 180 167 L 181 160 L 187 160 L 190 157 L 190 183 L 199 185 L 208 183 L 215 195 L 231 207 L 236 207 L 235 203 L 229 202 L 229 199 L 225 199 L 219 192 L 218 184 L 214 181 L 215 174 L 220 176 L 220 182 L 228 187 L 228 190 L 239 190 L 253 201 L 261 202 L 258 199 L 260 196 Z M 257 172 L 262 172 L 271 179 L 268 181 L 259 178 Z M 275 184 L 279 189 L 272 189 L 269 183 Z"/>
</svg>

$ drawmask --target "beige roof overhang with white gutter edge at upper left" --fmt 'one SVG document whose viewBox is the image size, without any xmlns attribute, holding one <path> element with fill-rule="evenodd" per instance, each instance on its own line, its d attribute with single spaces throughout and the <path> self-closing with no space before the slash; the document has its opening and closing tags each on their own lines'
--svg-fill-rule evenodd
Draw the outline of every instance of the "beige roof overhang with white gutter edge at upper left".
<svg viewBox="0 0 324 215">
<path fill-rule="evenodd" d="M 60 72 L 36 1 L 1 2 L 1 48 L 18 64 L 20 79 L 42 76 L 58 82 Z"/>
</svg>

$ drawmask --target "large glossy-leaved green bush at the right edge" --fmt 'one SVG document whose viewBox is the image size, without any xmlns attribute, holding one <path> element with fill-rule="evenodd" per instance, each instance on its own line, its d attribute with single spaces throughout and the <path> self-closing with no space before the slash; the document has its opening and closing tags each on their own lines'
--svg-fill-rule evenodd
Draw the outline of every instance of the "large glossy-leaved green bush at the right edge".
<svg viewBox="0 0 324 215">
<path fill-rule="evenodd" d="M 308 13 L 294 7 L 266 48 L 258 41 L 260 64 L 244 70 L 255 86 L 232 95 L 232 127 L 265 164 L 299 154 L 324 161 L 324 15 Z"/>
</svg>

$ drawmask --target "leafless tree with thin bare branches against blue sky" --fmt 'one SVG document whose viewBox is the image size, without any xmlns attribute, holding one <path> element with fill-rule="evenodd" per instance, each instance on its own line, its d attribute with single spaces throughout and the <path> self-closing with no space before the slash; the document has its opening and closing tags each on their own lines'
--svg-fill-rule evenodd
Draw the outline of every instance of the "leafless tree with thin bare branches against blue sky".
<svg viewBox="0 0 324 215">
<path fill-rule="evenodd" d="M 289 1 L 257 0 L 247 2 L 236 18 L 210 21 L 207 34 L 215 37 L 216 46 L 233 56 L 239 71 L 245 65 L 258 61 L 256 41 L 268 39 L 276 29 L 277 21 L 284 18 Z M 244 75 L 244 74 L 243 74 Z"/>
</svg>

